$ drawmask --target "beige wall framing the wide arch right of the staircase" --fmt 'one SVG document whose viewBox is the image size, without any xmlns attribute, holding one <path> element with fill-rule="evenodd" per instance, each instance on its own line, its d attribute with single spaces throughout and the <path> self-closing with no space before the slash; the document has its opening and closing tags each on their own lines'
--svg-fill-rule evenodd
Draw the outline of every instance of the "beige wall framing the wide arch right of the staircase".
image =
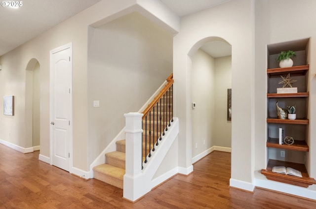
<svg viewBox="0 0 316 209">
<path fill-rule="evenodd" d="M 220 37 L 232 45 L 232 179 L 250 184 L 254 171 L 252 7 L 252 0 L 234 0 L 182 18 L 181 31 L 174 37 L 173 48 L 177 84 L 174 90 L 175 116 L 180 125 L 179 166 L 188 168 L 192 160 L 192 60 L 189 56 L 203 43 Z"/>
</svg>

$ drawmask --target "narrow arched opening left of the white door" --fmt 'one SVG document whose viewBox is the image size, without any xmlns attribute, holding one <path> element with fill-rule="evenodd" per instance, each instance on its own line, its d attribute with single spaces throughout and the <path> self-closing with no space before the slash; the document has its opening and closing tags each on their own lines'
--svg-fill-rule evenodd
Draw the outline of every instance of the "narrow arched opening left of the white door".
<svg viewBox="0 0 316 209">
<path fill-rule="evenodd" d="M 40 63 L 31 59 L 26 67 L 25 109 L 27 147 L 40 149 Z"/>
</svg>

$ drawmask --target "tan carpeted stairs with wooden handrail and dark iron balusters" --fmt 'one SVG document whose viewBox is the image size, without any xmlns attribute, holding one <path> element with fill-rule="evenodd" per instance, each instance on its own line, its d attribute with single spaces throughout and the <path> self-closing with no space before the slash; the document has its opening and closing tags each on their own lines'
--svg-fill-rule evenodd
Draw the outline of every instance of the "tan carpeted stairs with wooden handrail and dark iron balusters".
<svg viewBox="0 0 316 209">
<path fill-rule="evenodd" d="M 171 81 L 172 75 L 169 76 L 168 79 Z M 172 83 L 173 83 L 173 80 L 172 80 Z M 156 100 L 154 99 L 154 101 L 152 102 L 154 105 L 152 105 L 151 103 L 148 106 L 148 108 L 143 112 L 144 115 L 147 116 L 147 117 L 144 116 L 142 119 L 142 127 L 143 127 L 143 159 L 142 160 L 145 162 L 147 162 L 147 159 L 148 159 L 147 156 L 148 155 L 150 156 L 149 154 L 150 151 L 153 151 L 153 148 L 156 149 L 157 141 L 159 143 L 158 137 L 160 136 L 160 134 L 162 135 L 162 133 L 164 133 L 164 130 L 168 126 L 168 122 L 170 121 L 170 118 L 172 117 L 172 89 L 170 89 L 170 85 L 169 86 L 166 85 L 166 89 L 165 90 L 164 89 L 160 91 L 159 94 L 161 95 L 158 94 L 158 96 L 155 98 Z M 165 95 L 166 91 L 168 92 Z M 163 98 L 163 102 L 161 102 L 160 97 Z M 150 106 L 153 106 L 154 108 Z M 160 110 L 161 110 L 161 114 L 160 114 Z M 162 118 L 161 121 L 159 118 L 160 116 Z M 151 132 L 151 134 L 149 132 Z M 116 151 L 106 153 L 105 159 L 106 159 L 105 164 L 101 164 L 93 168 L 94 179 L 99 179 L 108 184 L 111 184 L 118 188 L 123 189 L 123 177 L 125 174 L 125 140 L 117 141 Z"/>
</svg>

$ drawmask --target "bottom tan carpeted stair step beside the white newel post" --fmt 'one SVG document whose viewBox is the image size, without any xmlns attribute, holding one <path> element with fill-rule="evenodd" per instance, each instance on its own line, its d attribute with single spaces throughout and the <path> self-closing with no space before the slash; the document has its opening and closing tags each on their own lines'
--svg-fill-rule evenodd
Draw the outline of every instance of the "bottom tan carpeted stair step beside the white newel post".
<svg viewBox="0 0 316 209">
<path fill-rule="evenodd" d="M 104 181 L 108 184 L 123 189 L 123 177 L 125 169 L 121 169 L 109 164 L 98 165 L 93 168 L 94 179 Z"/>
</svg>

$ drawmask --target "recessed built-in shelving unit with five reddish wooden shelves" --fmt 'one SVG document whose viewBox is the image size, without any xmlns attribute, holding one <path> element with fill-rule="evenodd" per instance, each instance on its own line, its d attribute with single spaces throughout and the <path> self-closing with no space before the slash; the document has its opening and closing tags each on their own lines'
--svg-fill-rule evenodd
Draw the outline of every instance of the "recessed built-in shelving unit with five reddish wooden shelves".
<svg viewBox="0 0 316 209">
<path fill-rule="evenodd" d="M 267 69 L 267 168 L 262 169 L 261 173 L 267 179 L 275 180 L 292 185 L 308 187 L 316 184 L 316 180 L 309 177 L 306 169 L 306 152 L 309 151 L 308 128 L 310 121 L 308 119 L 308 71 L 307 63 L 307 45 L 309 39 L 293 41 L 288 43 L 280 43 L 268 46 L 268 69 Z M 294 66 L 279 68 L 276 62 L 277 54 L 281 51 L 292 50 L 296 52 L 296 60 Z M 276 88 L 281 88 L 278 84 L 281 80 L 280 76 L 286 77 L 290 74 L 291 78 L 295 78 L 297 82 L 293 87 L 297 87 L 297 93 L 276 93 Z M 297 119 L 278 119 L 276 116 L 276 102 L 282 108 L 286 106 L 296 106 Z M 284 130 L 284 137 L 293 137 L 292 145 L 279 144 L 278 131 L 279 128 Z M 281 156 L 280 151 L 285 153 Z M 299 170 L 301 177 L 291 175 L 278 174 L 272 172 L 274 166 L 285 166 Z"/>
</svg>

